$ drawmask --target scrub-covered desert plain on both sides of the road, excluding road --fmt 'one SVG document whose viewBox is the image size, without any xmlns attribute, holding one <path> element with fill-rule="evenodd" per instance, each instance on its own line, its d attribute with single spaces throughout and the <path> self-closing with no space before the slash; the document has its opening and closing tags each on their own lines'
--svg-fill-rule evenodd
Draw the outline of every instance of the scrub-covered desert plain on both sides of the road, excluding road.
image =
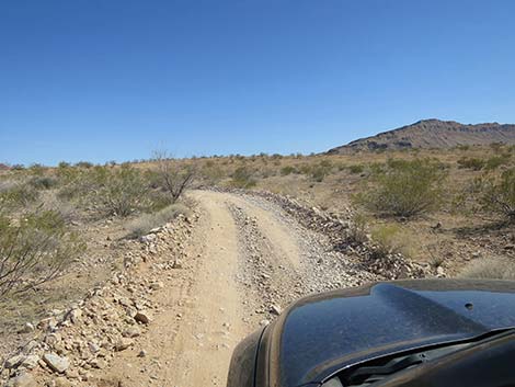
<svg viewBox="0 0 515 387">
<path fill-rule="evenodd" d="M 157 152 L 123 164 L 13 166 L 0 172 L 0 322 L 16 330 L 107 280 L 127 243 L 188 216 L 184 193 L 201 186 L 264 190 L 336 217 L 351 213 L 346 238 L 371 239 L 374 260 L 402 254 L 435 275 L 512 278 L 514 151 Z"/>
</svg>

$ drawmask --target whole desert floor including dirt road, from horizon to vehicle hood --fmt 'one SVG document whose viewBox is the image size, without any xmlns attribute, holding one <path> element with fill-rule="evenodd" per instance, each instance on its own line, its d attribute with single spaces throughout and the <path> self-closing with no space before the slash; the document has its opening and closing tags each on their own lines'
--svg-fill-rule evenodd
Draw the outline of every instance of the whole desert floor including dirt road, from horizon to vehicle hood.
<svg viewBox="0 0 515 387">
<path fill-rule="evenodd" d="M 500 187 L 513 152 L 492 145 L 12 166 L 0 172 L 0 209 L 14 239 L 0 251 L 48 234 L 59 244 L 42 257 L 62 255 L 62 265 L 41 283 L 33 280 L 54 261 L 35 265 L 2 293 L 2 380 L 225 386 L 236 344 L 299 297 L 405 277 L 510 278 L 512 218 L 485 204 L 480 182 Z M 431 208 L 402 215 L 366 196 L 397 192 L 389 179 L 419 184 L 407 180 L 413 168 L 433 173 Z M 163 177 L 188 181 L 170 198 Z"/>
</svg>

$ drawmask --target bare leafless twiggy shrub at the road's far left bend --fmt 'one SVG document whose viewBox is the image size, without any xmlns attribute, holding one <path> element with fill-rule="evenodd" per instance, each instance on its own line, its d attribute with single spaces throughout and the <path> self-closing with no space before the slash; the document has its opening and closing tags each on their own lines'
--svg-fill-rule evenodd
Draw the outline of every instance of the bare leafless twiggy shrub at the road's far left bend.
<svg viewBox="0 0 515 387">
<path fill-rule="evenodd" d="M 153 155 L 163 189 L 170 194 L 172 203 L 175 203 L 192 185 L 195 170 L 193 168 L 181 169 L 167 151 L 154 151 Z"/>
</svg>

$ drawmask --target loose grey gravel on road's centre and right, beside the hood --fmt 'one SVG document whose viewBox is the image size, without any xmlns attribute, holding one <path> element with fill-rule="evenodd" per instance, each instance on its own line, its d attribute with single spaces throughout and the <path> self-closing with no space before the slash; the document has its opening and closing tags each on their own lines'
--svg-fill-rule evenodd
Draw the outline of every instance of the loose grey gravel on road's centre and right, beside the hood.
<svg viewBox="0 0 515 387">
<path fill-rule="evenodd" d="M 276 204 L 263 203 L 260 207 L 268 212 L 282 209 Z M 299 297 L 309 294 L 357 286 L 366 282 L 384 280 L 379 275 L 357 268 L 345 254 L 333 251 L 325 236 L 299 226 L 286 214 L 277 214 L 290 229 L 290 236 L 299 246 L 299 265 L 295 266 L 274 249 L 273 243 L 260 230 L 256 218 L 249 216 L 239 206 L 229 209 L 238 225 L 240 241 L 240 274 L 238 282 L 247 295 L 248 316 L 260 316 L 260 325 L 267 325 Z"/>
</svg>

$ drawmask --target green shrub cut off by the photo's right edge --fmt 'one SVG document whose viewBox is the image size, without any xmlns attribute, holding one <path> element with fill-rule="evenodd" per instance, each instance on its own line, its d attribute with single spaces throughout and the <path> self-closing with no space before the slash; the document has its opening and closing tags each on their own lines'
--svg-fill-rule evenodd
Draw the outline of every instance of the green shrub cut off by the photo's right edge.
<svg viewBox="0 0 515 387">
<path fill-rule="evenodd" d="M 515 168 L 499 177 L 477 180 L 476 192 L 483 210 L 493 212 L 515 221 Z"/>
</svg>

